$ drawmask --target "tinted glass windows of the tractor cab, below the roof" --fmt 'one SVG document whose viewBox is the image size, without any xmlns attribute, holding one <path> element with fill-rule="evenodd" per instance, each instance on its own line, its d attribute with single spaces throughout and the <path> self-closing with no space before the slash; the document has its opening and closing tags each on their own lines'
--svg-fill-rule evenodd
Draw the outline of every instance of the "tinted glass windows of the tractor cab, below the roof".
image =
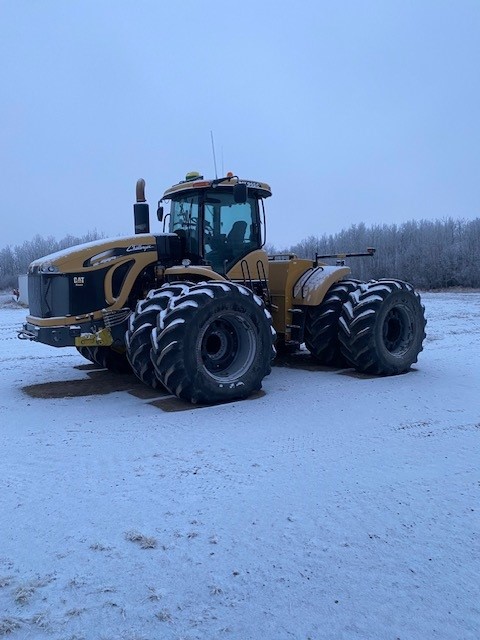
<svg viewBox="0 0 480 640">
<path fill-rule="evenodd" d="M 231 191 L 211 189 L 172 200 L 170 216 L 170 231 L 185 238 L 187 253 L 220 273 L 261 247 L 256 197 L 237 203 Z"/>
</svg>

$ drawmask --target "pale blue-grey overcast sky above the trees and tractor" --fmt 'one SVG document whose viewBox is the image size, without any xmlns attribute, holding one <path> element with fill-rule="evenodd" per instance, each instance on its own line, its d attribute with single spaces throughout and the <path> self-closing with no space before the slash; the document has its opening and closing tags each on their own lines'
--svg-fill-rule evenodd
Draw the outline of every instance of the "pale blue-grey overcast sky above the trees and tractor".
<svg viewBox="0 0 480 640">
<path fill-rule="evenodd" d="M 479 0 L 0 0 L 0 60 L 0 248 L 130 234 L 212 130 L 277 248 L 480 216 Z"/>
</svg>

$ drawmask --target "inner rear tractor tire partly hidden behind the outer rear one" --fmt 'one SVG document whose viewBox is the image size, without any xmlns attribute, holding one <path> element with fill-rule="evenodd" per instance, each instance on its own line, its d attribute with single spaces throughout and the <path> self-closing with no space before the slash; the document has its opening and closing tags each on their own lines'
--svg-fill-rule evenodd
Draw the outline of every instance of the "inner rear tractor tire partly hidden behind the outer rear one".
<svg viewBox="0 0 480 640">
<path fill-rule="evenodd" d="M 322 302 L 306 307 L 305 346 L 319 364 L 344 367 L 349 363 L 341 352 L 338 322 L 342 307 L 360 280 L 340 280 L 327 291 Z"/>
</svg>

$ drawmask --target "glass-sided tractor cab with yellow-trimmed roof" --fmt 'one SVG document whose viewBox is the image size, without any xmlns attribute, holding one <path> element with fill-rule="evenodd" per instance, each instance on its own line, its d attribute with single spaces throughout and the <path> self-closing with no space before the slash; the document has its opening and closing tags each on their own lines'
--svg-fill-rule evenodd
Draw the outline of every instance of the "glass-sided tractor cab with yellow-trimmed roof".
<svg viewBox="0 0 480 640">
<path fill-rule="evenodd" d="M 165 192 L 163 200 L 171 201 L 165 224 L 168 220 L 169 231 L 181 238 L 186 258 L 226 274 L 263 246 L 263 198 L 270 195 L 265 183 L 240 181 L 233 174 L 204 180 L 192 172 Z"/>
</svg>

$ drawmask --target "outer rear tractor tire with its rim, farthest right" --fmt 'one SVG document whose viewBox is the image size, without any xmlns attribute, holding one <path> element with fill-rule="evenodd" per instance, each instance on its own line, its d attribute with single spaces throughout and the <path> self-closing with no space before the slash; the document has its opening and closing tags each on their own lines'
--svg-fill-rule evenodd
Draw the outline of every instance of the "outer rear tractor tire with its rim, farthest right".
<svg viewBox="0 0 480 640">
<path fill-rule="evenodd" d="M 425 308 L 411 284 L 373 280 L 360 285 L 343 305 L 342 353 L 357 371 L 405 373 L 423 349 L 425 325 Z"/>
</svg>

